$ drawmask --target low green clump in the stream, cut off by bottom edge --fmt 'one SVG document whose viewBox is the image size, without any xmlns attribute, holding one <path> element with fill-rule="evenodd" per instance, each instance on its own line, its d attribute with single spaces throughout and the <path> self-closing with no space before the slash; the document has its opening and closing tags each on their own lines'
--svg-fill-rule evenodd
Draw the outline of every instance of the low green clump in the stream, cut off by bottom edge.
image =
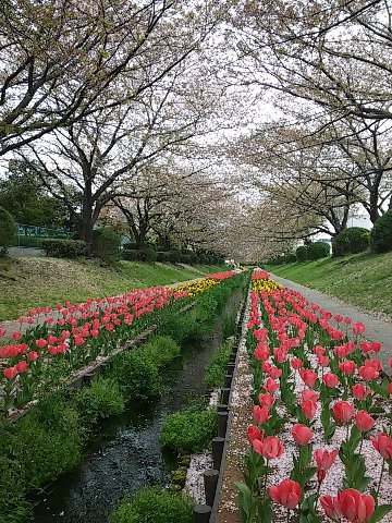
<svg viewBox="0 0 392 523">
<path fill-rule="evenodd" d="M 120 502 L 109 523 L 192 523 L 194 504 L 182 492 L 162 487 L 142 488 Z"/>
</svg>

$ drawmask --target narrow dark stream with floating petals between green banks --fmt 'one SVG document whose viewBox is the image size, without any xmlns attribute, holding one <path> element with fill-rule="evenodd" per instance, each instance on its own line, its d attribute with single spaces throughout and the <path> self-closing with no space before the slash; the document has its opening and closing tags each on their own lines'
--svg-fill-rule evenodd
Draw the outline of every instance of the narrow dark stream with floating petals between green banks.
<svg viewBox="0 0 392 523">
<path fill-rule="evenodd" d="M 211 337 L 182 351 L 164 370 L 164 390 L 157 402 L 132 405 L 100 424 L 81 464 L 63 475 L 41 497 L 35 523 L 107 523 L 108 513 L 124 492 L 149 484 L 169 483 L 175 458 L 162 453 L 159 435 L 164 418 L 204 393 L 205 366 L 222 338 L 222 319 L 238 308 L 238 290 L 216 320 Z"/>
</svg>

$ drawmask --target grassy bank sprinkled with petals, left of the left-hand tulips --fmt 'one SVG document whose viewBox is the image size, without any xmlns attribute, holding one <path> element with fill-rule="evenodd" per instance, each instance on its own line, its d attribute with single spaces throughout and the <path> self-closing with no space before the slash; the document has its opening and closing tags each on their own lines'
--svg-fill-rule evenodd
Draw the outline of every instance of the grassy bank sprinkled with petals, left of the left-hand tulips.
<svg viewBox="0 0 392 523">
<path fill-rule="evenodd" d="M 88 259 L 0 258 L 0 320 L 17 318 L 38 306 L 175 283 L 219 270 L 226 270 L 226 267 L 142 262 L 119 262 L 115 267 L 101 267 L 98 262 Z"/>
</svg>

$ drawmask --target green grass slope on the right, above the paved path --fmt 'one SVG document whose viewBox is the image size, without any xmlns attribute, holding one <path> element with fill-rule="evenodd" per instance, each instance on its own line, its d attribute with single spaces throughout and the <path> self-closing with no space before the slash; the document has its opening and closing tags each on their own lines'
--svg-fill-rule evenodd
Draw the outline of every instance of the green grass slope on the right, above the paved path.
<svg viewBox="0 0 392 523">
<path fill-rule="evenodd" d="M 392 316 L 392 253 L 323 258 L 268 270 L 364 309 Z"/>
</svg>

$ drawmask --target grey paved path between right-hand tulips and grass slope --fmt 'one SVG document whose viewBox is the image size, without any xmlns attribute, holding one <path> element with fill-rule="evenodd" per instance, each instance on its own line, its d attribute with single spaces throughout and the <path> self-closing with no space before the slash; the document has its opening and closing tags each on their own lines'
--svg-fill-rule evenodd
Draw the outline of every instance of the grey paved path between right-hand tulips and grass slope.
<svg viewBox="0 0 392 523">
<path fill-rule="evenodd" d="M 392 356 L 392 321 L 377 319 L 370 314 L 362 312 L 354 305 L 348 305 L 342 302 L 338 297 L 331 297 L 322 292 L 315 291 L 308 287 L 301 285 L 294 281 L 286 280 L 280 276 L 271 275 L 272 278 L 290 289 L 299 291 L 310 302 L 318 303 L 327 311 L 331 311 L 332 314 L 341 314 L 342 316 L 350 316 L 353 321 L 363 321 L 366 326 L 365 335 L 371 341 L 381 341 L 382 348 L 378 357 L 384 365 L 384 370 L 391 375 L 391 368 L 389 367 L 389 358 Z"/>
</svg>

